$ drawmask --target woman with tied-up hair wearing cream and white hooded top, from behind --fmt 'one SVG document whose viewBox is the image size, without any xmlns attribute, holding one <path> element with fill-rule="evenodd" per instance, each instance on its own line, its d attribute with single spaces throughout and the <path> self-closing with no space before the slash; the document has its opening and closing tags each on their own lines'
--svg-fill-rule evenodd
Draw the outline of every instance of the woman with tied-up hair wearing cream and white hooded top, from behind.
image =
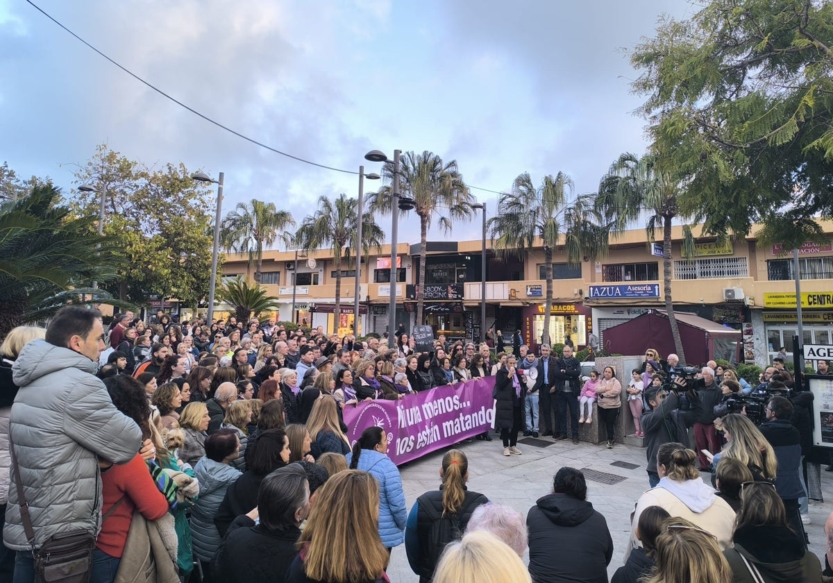
<svg viewBox="0 0 833 583">
<path fill-rule="evenodd" d="M 656 453 L 656 472 L 660 482 L 646 491 L 636 502 L 631 518 L 631 548 L 640 546 L 636 538 L 639 516 L 648 506 L 660 506 L 671 516 L 685 518 L 707 533 L 715 536 L 721 551 L 731 548 L 731 536 L 735 526 L 735 511 L 716 495 L 697 470 L 697 454 L 681 443 L 664 443 Z"/>
</svg>

